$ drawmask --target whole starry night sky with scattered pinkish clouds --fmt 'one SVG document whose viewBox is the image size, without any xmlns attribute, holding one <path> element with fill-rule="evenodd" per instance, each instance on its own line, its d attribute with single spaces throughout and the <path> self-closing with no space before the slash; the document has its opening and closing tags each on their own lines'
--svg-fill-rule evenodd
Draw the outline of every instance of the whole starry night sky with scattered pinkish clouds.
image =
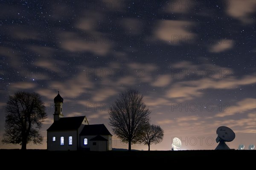
<svg viewBox="0 0 256 170">
<path fill-rule="evenodd" d="M 256 144 L 255 0 L 0 1 L 0 138 L 5 106 L 17 91 L 54 97 L 63 114 L 108 125 L 122 91 L 144 96 L 164 139 L 151 150 L 215 149 L 216 130 L 230 127 L 239 144 Z M 128 148 L 113 134 L 114 148 Z M 20 148 L 0 144 L 0 148 Z M 132 149 L 147 150 L 141 144 Z"/>
</svg>

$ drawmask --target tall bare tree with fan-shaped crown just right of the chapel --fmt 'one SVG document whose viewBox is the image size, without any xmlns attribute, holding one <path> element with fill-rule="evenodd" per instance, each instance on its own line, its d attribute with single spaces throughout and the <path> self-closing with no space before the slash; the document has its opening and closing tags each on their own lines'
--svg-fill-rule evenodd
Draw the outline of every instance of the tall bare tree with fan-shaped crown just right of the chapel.
<svg viewBox="0 0 256 170">
<path fill-rule="evenodd" d="M 149 123 L 150 111 L 144 104 L 143 95 L 136 90 L 127 90 L 119 96 L 108 111 L 110 125 L 121 141 L 128 143 L 131 151 L 131 144 L 140 141 L 145 125 Z"/>
</svg>

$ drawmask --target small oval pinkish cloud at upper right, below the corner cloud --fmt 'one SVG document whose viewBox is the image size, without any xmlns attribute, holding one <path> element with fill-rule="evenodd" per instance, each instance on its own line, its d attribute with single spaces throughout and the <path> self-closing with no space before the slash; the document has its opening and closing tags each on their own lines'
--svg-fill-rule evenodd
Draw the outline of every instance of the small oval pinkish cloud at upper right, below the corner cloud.
<svg viewBox="0 0 256 170">
<path fill-rule="evenodd" d="M 222 52 L 222 51 L 226 51 L 228 49 L 233 48 L 234 46 L 234 42 L 232 40 L 226 40 L 223 39 L 220 42 L 216 43 L 215 45 L 212 45 L 209 49 L 210 52 Z"/>
</svg>

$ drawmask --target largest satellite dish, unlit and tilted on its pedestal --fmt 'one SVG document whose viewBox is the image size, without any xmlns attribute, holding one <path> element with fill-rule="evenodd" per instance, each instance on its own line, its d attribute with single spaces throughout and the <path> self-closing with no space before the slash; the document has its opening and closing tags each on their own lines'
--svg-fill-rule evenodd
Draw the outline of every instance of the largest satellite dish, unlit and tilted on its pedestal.
<svg viewBox="0 0 256 170">
<path fill-rule="evenodd" d="M 235 139 L 236 135 L 232 129 L 226 126 L 218 127 L 216 131 L 218 137 L 216 138 L 216 142 L 220 142 L 215 150 L 230 150 L 225 142 L 231 142 Z"/>
</svg>

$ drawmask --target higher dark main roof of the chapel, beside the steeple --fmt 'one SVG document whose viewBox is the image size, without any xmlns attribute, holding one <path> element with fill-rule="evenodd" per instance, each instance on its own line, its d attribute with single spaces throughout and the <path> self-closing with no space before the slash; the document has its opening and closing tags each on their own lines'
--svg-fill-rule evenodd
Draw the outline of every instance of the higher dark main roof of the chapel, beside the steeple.
<svg viewBox="0 0 256 170">
<path fill-rule="evenodd" d="M 47 129 L 47 131 L 55 130 L 77 130 L 83 122 L 85 116 L 64 117 L 55 122 Z"/>
</svg>

